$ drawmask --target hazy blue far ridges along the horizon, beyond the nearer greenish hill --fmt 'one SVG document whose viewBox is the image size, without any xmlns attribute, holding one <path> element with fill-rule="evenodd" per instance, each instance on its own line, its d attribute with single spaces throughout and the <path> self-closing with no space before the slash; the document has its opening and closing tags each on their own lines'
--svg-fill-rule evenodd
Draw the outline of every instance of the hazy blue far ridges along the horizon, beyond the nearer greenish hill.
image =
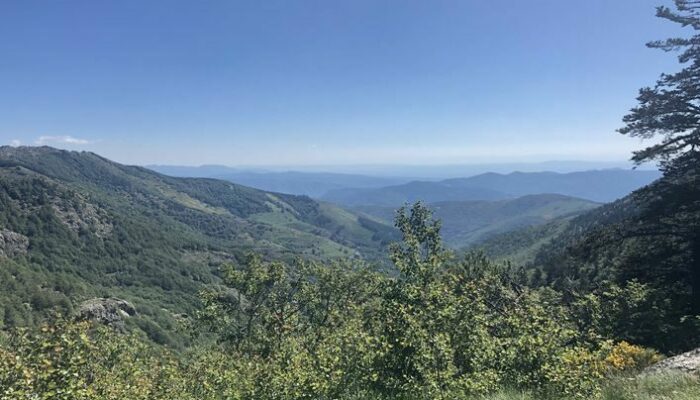
<svg viewBox="0 0 700 400">
<path fill-rule="evenodd" d="M 178 177 L 224 179 L 253 188 L 295 194 L 346 206 L 398 206 L 422 200 L 504 200 L 552 193 L 605 203 L 623 197 L 661 176 L 656 170 L 622 168 L 578 172 L 488 172 L 463 178 L 415 180 L 337 172 L 267 171 L 217 165 L 149 166 Z"/>
</svg>

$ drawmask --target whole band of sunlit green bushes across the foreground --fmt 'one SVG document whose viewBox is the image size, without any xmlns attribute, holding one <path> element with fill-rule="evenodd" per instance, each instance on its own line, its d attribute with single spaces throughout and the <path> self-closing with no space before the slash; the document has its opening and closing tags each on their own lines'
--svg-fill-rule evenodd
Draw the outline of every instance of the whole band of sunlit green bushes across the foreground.
<svg viewBox="0 0 700 400">
<path fill-rule="evenodd" d="M 455 260 L 421 204 L 396 222 L 394 275 L 258 256 L 225 264 L 197 319 L 217 344 L 172 353 L 86 322 L 15 331 L 0 340 L 0 398 L 580 399 L 658 359 L 606 339 L 602 307 L 629 312 L 643 285 L 571 305 L 522 286 L 508 264 Z"/>
</svg>

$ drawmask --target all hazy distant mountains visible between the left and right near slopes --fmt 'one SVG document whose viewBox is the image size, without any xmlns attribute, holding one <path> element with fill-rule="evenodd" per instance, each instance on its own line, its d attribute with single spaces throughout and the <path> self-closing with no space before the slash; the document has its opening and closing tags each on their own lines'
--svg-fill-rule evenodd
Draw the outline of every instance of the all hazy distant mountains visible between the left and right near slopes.
<svg viewBox="0 0 700 400">
<path fill-rule="evenodd" d="M 468 247 L 494 235 L 571 218 L 623 197 L 658 177 L 658 171 L 604 169 L 582 172 L 484 173 L 441 181 L 406 181 L 320 172 L 246 171 L 223 166 L 152 166 L 169 175 L 209 176 L 280 193 L 305 194 L 360 212 L 366 221 L 392 225 L 396 209 L 423 201 L 443 221 L 445 242 Z"/>
</svg>

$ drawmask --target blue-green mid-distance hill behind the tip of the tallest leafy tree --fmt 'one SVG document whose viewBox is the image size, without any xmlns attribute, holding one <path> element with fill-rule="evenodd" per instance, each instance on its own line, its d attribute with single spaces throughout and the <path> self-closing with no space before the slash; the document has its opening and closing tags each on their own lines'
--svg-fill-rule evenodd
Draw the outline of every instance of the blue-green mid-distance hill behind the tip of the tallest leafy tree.
<svg viewBox="0 0 700 400">
<path fill-rule="evenodd" d="M 497 201 L 438 202 L 430 204 L 430 208 L 442 221 L 445 242 L 453 248 L 461 248 L 502 232 L 578 215 L 598 205 L 568 196 L 540 194 Z M 395 212 L 393 207 L 379 206 L 359 206 L 354 210 L 385 223 L 393 219 Z"/>
</svg>

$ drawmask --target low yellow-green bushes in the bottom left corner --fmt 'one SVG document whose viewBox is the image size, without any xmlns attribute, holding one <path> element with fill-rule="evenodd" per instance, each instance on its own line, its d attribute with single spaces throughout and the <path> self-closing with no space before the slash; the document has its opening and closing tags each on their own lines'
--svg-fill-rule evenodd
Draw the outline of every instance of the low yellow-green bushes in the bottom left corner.
<svg viewBox="0 0 700 400">
<path fill-rule="evenodd" d="M 213 354 L 178 359 L 135 337 L 64 321 L 17 331 L 0 348 L 0 399 L 235 398 L 224 397 L 233 392 L 219 384 L 228 377 L 219 367 Z"/>
</svg>

